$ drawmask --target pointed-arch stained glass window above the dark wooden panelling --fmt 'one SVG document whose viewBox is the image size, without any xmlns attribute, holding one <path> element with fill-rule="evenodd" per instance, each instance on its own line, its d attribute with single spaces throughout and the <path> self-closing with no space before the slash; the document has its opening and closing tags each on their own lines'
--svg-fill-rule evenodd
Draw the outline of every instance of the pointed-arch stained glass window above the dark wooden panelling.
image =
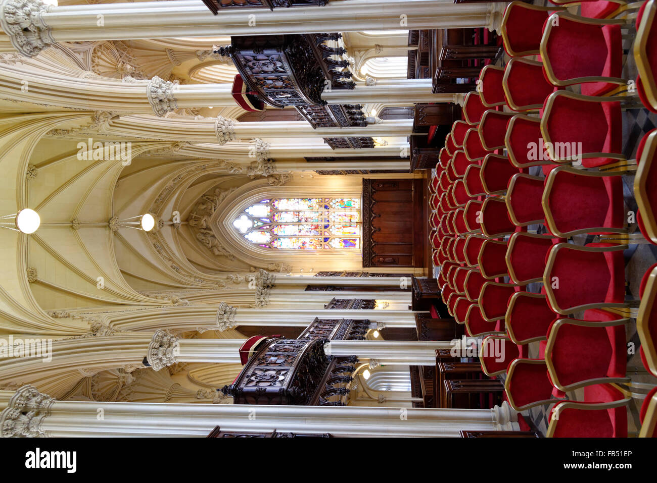
<svg viewBox="0 0 657 483">
<path fill-rule="evenodd" d="M 233 221 L 251 243 L 283 250 L 360 249 L 358 198 L 281 198 L 250 205 Z"/>
</svg>

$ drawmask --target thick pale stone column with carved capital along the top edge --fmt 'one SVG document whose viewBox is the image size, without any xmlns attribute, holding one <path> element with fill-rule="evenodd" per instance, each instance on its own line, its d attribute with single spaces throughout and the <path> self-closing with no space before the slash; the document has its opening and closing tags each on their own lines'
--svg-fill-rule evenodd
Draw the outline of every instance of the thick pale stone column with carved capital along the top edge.
<svg viewBox="0 0 657 483">
<path fill-rule="evenodd" d="M 505 4 L 451 0 L 350 0 L 294 9 L 226 9 L 213 15 L 196 0 L 47 6 L 3 0 L 0 22 L 16 50 L 35 56 L 57 42 L 320 33 L 326 31 L 476 28 L 493 30 Z M 256 22 L 248 21 L 256 15 Z M 207 105 L 207 104 L 204 104 Z M 216 104 L 212 104 L 216 105 Z"/>
</svg>

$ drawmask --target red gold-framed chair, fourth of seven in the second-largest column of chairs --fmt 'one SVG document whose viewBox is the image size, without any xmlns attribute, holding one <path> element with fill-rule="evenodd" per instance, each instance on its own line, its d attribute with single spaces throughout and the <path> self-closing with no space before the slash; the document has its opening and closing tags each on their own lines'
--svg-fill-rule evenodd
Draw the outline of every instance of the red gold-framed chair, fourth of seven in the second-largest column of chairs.
<svg viewBox="0 0 657 483">
<path fill-rule="evenodd" d="M 527 226 L 545 221 L 541 203 L 543 182 L 543 178 L 525 173 L 516 173 L 511 177 L 505 201 L 509 219 L 514 225 Z"/>
</svg>

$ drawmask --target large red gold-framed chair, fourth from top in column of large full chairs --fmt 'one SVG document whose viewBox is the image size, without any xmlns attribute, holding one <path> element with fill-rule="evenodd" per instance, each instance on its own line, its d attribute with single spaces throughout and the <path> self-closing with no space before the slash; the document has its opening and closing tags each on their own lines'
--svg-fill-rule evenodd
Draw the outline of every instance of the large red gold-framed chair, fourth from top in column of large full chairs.
<svg viewBox="0 0 657 483">
<path fill-rule="evenodd" d="M 547 255 L 543 285 L 550 306 L 559 314 L 588 308 L 625 307 L 627 245 L 557 243 Z M 555 278 L 556 277 L 556 278 Z"/>
</svg>

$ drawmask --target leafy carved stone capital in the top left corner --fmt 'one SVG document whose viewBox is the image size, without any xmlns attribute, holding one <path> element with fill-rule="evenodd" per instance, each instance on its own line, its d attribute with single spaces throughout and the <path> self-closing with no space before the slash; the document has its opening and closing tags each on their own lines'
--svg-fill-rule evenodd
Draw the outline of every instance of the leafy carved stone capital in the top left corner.
<svg viewBox="0 0 657 483">
<path fill-rule="evenodd" d="M 50 27 L 43 21 L 43 14 L 52 8 L 40 0 L 3 0 L 0 24 L 14 49 L 34 57 L 55 43 Z"/>
</svg>

